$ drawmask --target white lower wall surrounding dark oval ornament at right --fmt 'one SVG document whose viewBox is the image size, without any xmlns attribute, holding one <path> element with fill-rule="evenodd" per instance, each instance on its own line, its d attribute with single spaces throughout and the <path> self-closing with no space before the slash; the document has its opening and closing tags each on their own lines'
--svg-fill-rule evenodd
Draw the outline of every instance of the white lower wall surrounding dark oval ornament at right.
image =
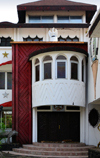
<svg viewBox="0 0 100 158">
<path fill-rule="evenodd" d="M 89 112 L 91 109 L 95 108 L 96 110 L 98 110 L 99 114 L 100 114 L 100 104 L 99 105 L 96 105 L 96 104 L 91 104 L 89 105 Z M 99 123 L 100 124 L 100 121 Z M 98 124 L 96 127 L 92 127 L 90 125 L 90 123 L 88 122 L 88 127 L 89 127 L 89 130 L 88 130 L 88 144 L 89 145 L 95 145 L 97 146 L 98 143 L 100 142 L 100 131 L 98 130 Z"/>
</svg>

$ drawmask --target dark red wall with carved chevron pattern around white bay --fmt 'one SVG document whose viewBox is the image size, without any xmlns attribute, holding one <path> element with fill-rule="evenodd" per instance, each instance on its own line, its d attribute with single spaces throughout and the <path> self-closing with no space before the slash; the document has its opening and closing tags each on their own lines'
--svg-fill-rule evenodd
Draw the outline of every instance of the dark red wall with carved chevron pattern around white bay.
<svg viewBox="0 0 100 158">
<path fill-rule="evenodd" d="M 57 44 L 57 43 L 22 43 L 12 44 L 12 119 L 13 130 L 18 131 L 17 142 L 32 143 L 32 90 L 31 90 L 31 61 L 29 55 L 36 50 L 54 47 L 72 46 L 87 51 L 87 44 Z"/>
</svg>

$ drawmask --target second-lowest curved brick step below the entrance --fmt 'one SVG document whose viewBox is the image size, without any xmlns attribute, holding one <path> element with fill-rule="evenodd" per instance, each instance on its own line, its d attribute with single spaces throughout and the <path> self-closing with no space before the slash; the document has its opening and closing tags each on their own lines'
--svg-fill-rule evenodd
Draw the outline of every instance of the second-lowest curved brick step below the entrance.
<svg viewBox="0 0 100 158">
<path fill-rule="evenodd" d="M 14 148 L 13 151 L 17 153 L 45 155 L 45 156 L 87 156 L 88 155 L 88 151 L 38 151 L 38 150 L 29 150 L 25 148 Z"/>
</svg>

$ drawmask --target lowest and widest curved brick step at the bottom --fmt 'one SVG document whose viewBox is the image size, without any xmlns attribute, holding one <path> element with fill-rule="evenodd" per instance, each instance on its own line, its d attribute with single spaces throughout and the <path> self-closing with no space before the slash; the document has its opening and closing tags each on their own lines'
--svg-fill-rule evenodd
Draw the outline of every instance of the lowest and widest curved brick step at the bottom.
<svg viewBox="0 0 100 158">
<path fill-rule="evenodd" d="M 20 156 L 22 156 L 22 158 L 88 158 L 88 156 L 45 156 L 45 155 L 32 155 L 32 154 L 25 154 L 25 153 L 17 153 L 14 151 L 3 151 L 3 153 L 5 154 L 4 156 L 6 156 L 6 154 L 8 155 L 17 155 L 17 157 L 20 158 Z M 12 156 L 11 156 L 12 157 Z"/>
</svg>

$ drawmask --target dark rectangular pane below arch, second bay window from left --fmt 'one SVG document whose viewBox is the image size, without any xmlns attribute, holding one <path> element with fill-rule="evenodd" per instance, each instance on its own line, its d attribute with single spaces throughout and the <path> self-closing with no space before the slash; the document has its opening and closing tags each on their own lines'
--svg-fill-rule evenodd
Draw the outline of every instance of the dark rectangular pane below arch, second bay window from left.
<svg viewBox="0 0 100 158">
<path fill-rule="evenodd" d="M 51 63 L 44 64 L 44 79 L 51 78 Z"/>
</svg>

